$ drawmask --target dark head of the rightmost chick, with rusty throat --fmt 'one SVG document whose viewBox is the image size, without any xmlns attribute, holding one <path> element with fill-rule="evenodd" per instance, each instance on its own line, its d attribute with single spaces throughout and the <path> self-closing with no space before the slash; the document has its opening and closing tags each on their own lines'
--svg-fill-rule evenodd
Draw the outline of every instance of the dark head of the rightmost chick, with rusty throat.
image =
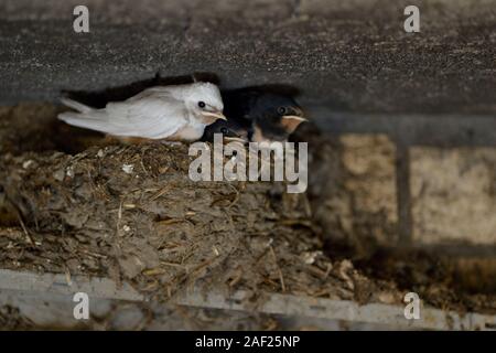
<svg viewBox="0 0 496 353">
<path fill-rule="evenodd" d="M 250 115 L 254 119 L 250 140 L 256 142 L 285 141 L 300 124 L 306 121 L 292 97 L 268 93 L 257 98 Z"/>
</svg>

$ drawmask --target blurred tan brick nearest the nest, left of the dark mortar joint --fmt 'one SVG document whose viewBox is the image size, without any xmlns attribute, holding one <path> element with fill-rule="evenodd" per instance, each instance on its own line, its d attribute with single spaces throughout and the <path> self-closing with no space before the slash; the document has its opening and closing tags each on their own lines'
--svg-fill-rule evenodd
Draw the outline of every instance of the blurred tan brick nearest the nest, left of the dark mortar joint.
<svg viewBox="0 0 496 353">
<path fill-rule="evenodd" d="M 316 218 L 332 242 L 344 240 L 358 253 L 396 244 L 395 145 L 384 135 L 355 133 L 343 135 L 339 143 L 341 171 L 323 191 Z"/>
</svg>

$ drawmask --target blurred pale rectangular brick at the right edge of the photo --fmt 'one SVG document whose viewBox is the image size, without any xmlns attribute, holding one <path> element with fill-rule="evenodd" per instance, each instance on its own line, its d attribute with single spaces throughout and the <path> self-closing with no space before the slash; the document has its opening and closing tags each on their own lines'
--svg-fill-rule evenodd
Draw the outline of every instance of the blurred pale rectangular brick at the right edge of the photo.
<svg viewBox="0 0 496 353">
<path fill-rule="evenodd" d="M 496 245 L 496 149 L 410 150 L 413 239 Z"/>
</svg>

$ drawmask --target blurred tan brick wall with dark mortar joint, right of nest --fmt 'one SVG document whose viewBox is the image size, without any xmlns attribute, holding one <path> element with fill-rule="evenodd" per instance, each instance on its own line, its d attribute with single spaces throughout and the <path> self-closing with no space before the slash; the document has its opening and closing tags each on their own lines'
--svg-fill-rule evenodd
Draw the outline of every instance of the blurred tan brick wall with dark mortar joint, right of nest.
<svg viewBox="0 0 496 353">
<path fill-rule="evenodd" d="M 337 140 L 338 188 L 316 212 L 327 236 L 496 255 L 495 147 L 405 146 L 365 132 Z"/>
</svg>

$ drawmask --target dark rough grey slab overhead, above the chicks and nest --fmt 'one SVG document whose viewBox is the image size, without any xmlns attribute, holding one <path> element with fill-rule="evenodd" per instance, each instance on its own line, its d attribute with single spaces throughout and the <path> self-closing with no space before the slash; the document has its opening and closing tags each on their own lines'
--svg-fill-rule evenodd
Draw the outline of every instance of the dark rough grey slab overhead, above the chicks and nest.
<svg viewBox="0 0 496 353">
<path fill-rule="evenodd" d="M 481 113 L 495 106 L 496 0 L 87 0 L 0 2 L 0 103 L 56 100 L 206 72 L 225 87 L 287 84 L 303 103 L 363 113 Z"/>
</svg>

